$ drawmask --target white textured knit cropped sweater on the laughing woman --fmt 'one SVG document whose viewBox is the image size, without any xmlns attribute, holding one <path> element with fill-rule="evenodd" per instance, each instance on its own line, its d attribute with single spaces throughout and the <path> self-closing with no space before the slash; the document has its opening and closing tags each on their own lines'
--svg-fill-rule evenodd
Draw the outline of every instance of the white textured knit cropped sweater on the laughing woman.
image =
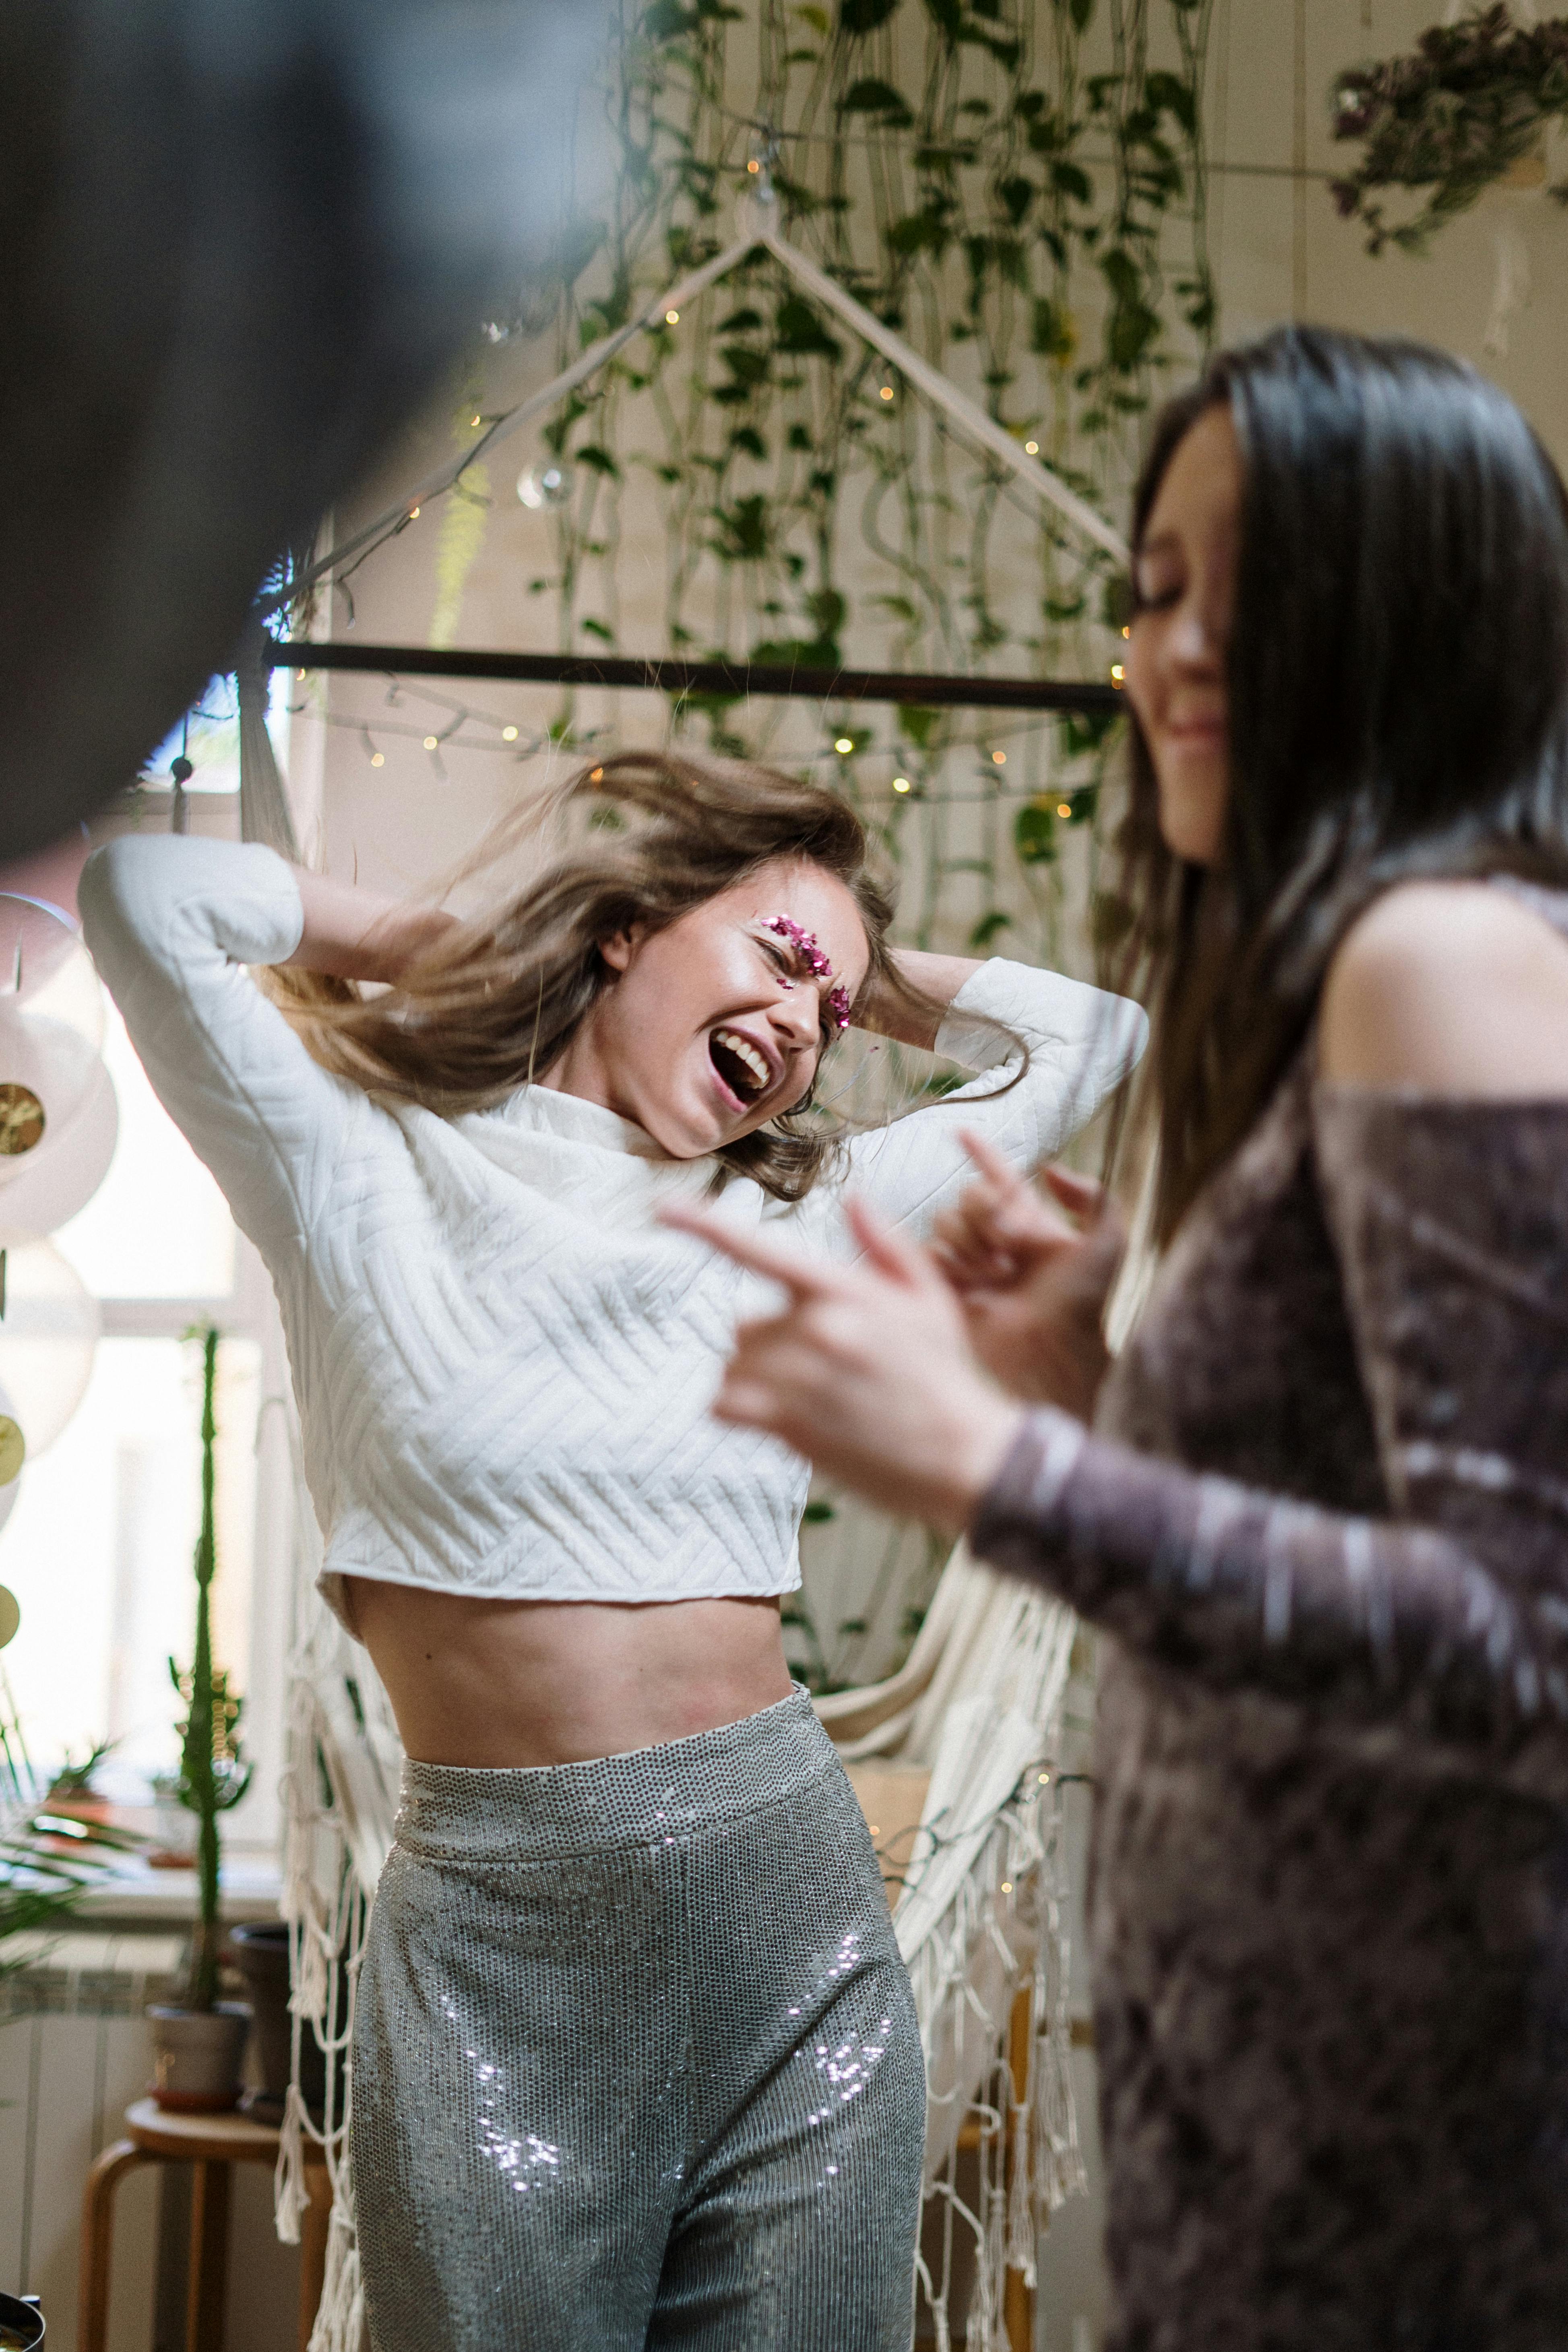
<svg viewBox="0 0 1568 2352">
<path fill-rule="evenodd" d="M 329 1077 L 242 969 L 303 927 L 270 849 L 127 837 L 89 858 L 80 906 L 158 1096 L 273 1275 L 339 1613 L 341 1576 L 599 1602 L 799 1583 L 806 1465 L 708 1416 L 762 1294 L 654 1223 L 705 1192 L 710 1160 L 543 1087 L 442 1120 Z M 1027 1037 L 1025 1082 L 849 1145 L 851 1181 L 917 1230 L 966 1178 L 959 1124 L 1032 1164 L 1145 1040 L 1135 1004 L 1023 964 L 985 964 L 943 1028 L 940 1051 L 983 1068 L 994 1040 L 964 1011 Z M 832 1247 L 837 1190 L 785 1207 L 731 1181 L 719 1211 Z"/>
</svg>

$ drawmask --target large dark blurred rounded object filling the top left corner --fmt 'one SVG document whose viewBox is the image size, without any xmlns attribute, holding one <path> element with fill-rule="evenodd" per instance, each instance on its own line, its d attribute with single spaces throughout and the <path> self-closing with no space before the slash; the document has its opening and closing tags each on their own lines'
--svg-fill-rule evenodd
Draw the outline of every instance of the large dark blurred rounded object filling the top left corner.
<svg viewBox="0 0 1568 2352">
<path fill-rule="evenodd" d="M 0 856 L 134 774 L 557 228 L 602 0 L 0 0 Z"/>
</svg>

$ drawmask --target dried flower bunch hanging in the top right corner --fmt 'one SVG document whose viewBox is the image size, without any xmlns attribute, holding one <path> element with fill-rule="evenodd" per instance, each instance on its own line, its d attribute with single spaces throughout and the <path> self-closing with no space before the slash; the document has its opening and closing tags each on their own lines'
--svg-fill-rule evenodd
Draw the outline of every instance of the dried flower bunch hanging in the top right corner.
<svg viewBox="0 0 1568 2352">
<path fill-rule="evenodd" d="M 1366 249 L 1422 252 L 1528 155 L 1547 122 L 1568 118 L 1568 19 L 1516 26 L 1505 0 L 1432 26 L 1408 56 L 1356 66 L 1333 92 L 1335 139 L 1363 141 L 1361 165 L 1333 183 Z M 1429 188 L 1410 221 L 1389 223 L 1375 188 Z M 1549 191 L 1568 202 L 1568 181 Z"/>
</svg>

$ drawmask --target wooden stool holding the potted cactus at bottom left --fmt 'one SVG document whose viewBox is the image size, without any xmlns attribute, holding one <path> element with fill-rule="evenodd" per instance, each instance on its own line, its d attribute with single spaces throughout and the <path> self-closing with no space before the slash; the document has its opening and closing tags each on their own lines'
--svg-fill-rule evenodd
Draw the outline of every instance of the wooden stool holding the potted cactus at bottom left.
<svg viewBox="0 0 1568 2352">
<path fill-rule="evenodd" d="M 228 2286 L 228 2166 L 277 2164 L 277 2131 L 244 2114 L 174 2114 L 155 2098 L 125 2110 L 125 2138 L 106 2147 L 82 2190 L 82 2291 L 75 2314 L 78 2352 L 108 2352 L 108 2263 L 115 2234 L 115 2190 L 139 2164 L 190 2164 L 190 2281 L 186 2352 L 223 2352 L 223 2291 Z M 299 2267 L 299 2345 L 306 2352 L 327 2267 L 331 2183 L 324 2164 L 306 2169 L 306 2211 Z"/>
</svg>

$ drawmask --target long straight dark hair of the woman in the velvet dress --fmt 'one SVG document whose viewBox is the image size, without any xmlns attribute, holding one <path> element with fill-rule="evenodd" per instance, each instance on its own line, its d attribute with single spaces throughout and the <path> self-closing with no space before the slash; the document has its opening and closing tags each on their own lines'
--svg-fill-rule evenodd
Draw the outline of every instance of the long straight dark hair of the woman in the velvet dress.
<svg viewBox="0 0 1568 2352">
<path fill-rule="evenodd" d="M 1246 485 L 1225 842 L 1215 866 L 1166 849 L 1133 720 L 1110 901 L 1114 983 L 1152 1011 L 1161 1242 L 1258 1120 L 1373 896 L 1413 875 L 1568 884 L 1568 499 L 1514 402 L 1420 343 L 1284 327 L 1164 409 L 1133 550 L 1211 407 Z"/>
</svg>

